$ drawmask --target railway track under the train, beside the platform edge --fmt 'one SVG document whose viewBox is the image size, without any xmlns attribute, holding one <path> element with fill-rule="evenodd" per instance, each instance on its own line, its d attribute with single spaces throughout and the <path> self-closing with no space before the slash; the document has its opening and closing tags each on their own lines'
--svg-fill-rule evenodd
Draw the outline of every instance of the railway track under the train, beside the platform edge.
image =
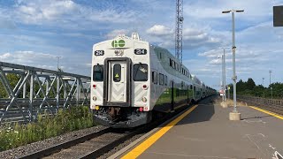
<svg viewBox="0 0 283 159">
<path fill-rule="evenodd" d="M 190 108 L 190 105 L 188 108 Z M 135 129 L 113 129 L 106 128 L 97 133 L 91 133 L 80 138 L 66 141 L 65 143 L 46 148 L 33 154 L 25 155 L 20 158 L 97 158 L 116 148 L 119 144 L 131 139 L 134 135 L 148 133 L 164 121 L 176 117 L 180 111 L 186 108 L 176 110 L 172 114 L 160 117 L 149 125 L 142 125 Z"/>
</svg>

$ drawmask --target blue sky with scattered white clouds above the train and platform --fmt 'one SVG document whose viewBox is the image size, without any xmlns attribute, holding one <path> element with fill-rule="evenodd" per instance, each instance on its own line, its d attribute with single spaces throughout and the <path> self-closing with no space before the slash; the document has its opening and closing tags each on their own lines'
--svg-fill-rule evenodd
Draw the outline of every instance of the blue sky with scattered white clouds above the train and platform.
<svg viewBox="0 0 283 159">
<path fill-rule="evenodd" d="M 283 0 L 184 0 L 183 64 L 207 85 L 220 83 L 221 47 L 231 48 L 236 13 L 238 79 L 283 80 L 283 27 L 272 27 L 272 6 Z M 94 43 L 138 32 L 174 54 L 175 0 L 0 0 L 0 61 L 90 75 Z M 232 54 L 226 50 L 226 83 Z"/>
</svg>

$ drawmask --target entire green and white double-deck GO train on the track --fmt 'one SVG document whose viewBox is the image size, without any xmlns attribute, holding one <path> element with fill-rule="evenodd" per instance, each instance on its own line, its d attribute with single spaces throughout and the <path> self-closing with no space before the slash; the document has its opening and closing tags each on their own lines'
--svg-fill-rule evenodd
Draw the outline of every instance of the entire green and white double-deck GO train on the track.
<svg viewBox="0 0 283 159">
<path fill-rule="evenodd" d="M 90 108 L 112 127 L 149 123 L 157 113 L 215 94 L 167 50 L 119 35 L 93 47 Z"/>
</svg>

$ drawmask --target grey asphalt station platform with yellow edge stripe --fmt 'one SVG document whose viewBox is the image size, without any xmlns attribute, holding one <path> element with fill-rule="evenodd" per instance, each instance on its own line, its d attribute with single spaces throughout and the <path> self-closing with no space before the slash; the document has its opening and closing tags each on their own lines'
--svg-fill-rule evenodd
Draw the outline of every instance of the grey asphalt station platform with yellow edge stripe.
<svg viewBox="0 0 283 159">
<path fill-rule="evenodd" d="M 241 121 L 230 121 L 233 108 L 222 108 L 210 99 L 194 108 L 119 158 L 277 159 L 283 154 L 283 118 L 241 106 Z"/>
</svg>

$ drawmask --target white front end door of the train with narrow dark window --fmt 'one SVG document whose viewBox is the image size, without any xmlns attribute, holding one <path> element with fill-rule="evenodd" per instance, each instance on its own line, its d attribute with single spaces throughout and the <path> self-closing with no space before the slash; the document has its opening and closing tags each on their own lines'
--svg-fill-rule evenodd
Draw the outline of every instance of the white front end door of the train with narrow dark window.
<svg viewBox="0 0 283 159">
<path fill-rule="evenodd" d="M 126 102 L 126 61 L 109 62 L 108 102 Z"/>
</svg>

